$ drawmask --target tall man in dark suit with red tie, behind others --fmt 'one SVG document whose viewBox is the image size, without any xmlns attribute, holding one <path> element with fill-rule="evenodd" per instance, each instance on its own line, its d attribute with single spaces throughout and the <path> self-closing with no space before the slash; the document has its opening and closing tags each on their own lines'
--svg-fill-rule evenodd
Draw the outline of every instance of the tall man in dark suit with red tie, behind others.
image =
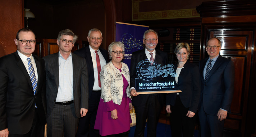
<svg viewBox="0 0 256 137">
<path fill-rule="evenodd" d="M 108 52 L 100 48 L 102 33 L 99 29 L 91 29 L 87 40 L 89 41 L 89 46 L 74 51 L 74 54 L 86 59 L 89 75 L 89 84 L 87 85 L 89 87 L 89 109 L 86 116 L 79 119 L 77 137 L 88 137 L 88 135 L 90 137 L 99 137 L 99 130 L 94 129 L 101 95 L 100 77 L 98 75 L 100 70 L 98 72 L 96 51 L 99 55 L 100 69 L 108 62 Z"/>
</svg>

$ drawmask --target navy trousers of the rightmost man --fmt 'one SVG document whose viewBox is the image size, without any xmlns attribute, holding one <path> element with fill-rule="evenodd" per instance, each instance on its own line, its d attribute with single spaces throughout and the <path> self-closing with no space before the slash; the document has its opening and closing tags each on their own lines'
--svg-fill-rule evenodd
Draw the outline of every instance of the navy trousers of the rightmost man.
<svg viewBox="0 0 256 137">
<path fill-rule="evenodd" d="M 206 114 L 203 105 L 198 112 L 201 137 L 222 137 L 225 120 L 219 121 L 215 115 Z"/>
</svg>

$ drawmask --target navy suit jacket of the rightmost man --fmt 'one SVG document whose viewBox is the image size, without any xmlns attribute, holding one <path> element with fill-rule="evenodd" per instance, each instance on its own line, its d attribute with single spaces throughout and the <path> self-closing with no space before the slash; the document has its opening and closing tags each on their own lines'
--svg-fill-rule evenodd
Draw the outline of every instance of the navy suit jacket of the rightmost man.
<svg viewBox="0 0 256 137">
<path fill-rule="evenodd" d="M 230 109 L 234 92 L 234 64 L 219 55 L 205 81 L 203 73 L 208 59 L 201 60 L 199 65 L 202 92 L 198 111 L 203 105 L 206 114 L 217 116 L 220 108 Z"/>
</svg>

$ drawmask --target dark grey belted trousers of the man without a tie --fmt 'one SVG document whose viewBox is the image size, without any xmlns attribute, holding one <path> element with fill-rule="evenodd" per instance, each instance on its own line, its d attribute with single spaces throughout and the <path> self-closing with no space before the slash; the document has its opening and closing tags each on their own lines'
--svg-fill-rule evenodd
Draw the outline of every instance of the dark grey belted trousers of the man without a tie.
<svg viewBox="0 0 256 137">
<path fill-rule="evenodd" d="M 47 137 L 75 137 L 78 126 L 74 103 L 67 106 L 55 104 L 46 119 Z"/>
</svg>

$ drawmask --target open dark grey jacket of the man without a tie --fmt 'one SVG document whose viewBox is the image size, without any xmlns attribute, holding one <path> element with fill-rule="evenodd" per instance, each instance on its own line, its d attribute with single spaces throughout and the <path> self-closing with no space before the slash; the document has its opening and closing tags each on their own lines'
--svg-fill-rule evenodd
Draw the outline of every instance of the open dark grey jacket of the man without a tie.
<svg viewBox="0 0 256 137">
<path fill-rule="evenodd" d="M 59 88 L 59 52 L 47 55 L 45 60 L 46 72 L 46 101 L 47 115 L 52 112 Z M 73 96 L 77 118 L 81 117 L 80 109 L 88 109 L 88 74 L 86 60 L 72 53 L 73 64 Z"/>
</svg>

